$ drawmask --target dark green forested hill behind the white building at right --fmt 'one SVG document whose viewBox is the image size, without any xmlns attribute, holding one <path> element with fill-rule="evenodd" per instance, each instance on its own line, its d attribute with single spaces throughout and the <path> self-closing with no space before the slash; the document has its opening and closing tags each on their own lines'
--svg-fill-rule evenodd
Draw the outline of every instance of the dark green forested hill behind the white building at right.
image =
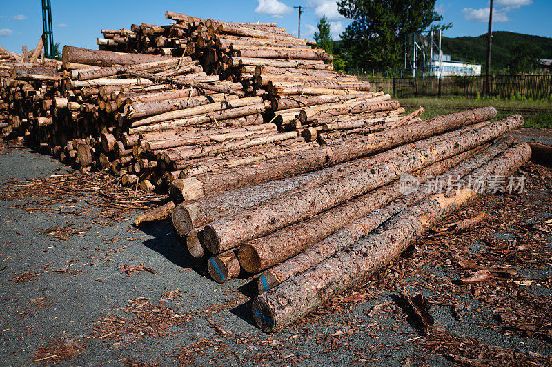
<svg viewBox="0 0 552 367">
<path fill-rule="evenodd" d="M 506 68 L 513 57 L 518 57 L 520 49 L 538 52 L 538 58 L 552 59 L 552 38 L 530 36 L 514 32 L 493 32 L 491 66 L 494 70 Z M 444 54 L 450 54 L 453 60 L 485 63 L 487 52 L 487 34 L 478 37 L 455 37 L 442 39 Z"/>
</svg>

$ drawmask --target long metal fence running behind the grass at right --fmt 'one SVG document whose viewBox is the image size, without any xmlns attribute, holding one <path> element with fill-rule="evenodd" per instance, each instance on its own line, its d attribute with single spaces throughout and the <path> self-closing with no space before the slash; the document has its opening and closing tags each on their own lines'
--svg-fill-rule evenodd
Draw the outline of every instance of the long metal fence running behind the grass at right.
<svg viewBox="0 0 552 367">
<path fill-rule="evenodd" d="M 417 78 L 363 78 L 371 82 L 374 91 L 384 90 L 393 97 L 477 97 L 484 95 L 485 76 L 450 76 Z M 522 95 L 541 99 L 552 95 L 552 75 L 491 75 L 489 95 L 510 97 Z"/>
</svg>

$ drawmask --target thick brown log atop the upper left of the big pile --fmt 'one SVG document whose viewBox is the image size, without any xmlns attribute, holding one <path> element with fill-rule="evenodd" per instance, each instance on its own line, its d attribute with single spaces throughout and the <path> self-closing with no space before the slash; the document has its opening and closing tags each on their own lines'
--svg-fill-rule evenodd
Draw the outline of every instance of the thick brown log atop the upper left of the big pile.
<svg viewBox="0 0 552 367">
<path fill-rule="evenodd" d="M 172 59 L 172 57 L 153 54 L 127 54 L 112 51 L 90 50 L 88 48 L 66 45 L 63 46 L 61 59 L 63 61 L 63 67 L 68 68 L 69 63 L 83 63 L 93 66 L 134 65 L 137 63 Z"/>
</svg>

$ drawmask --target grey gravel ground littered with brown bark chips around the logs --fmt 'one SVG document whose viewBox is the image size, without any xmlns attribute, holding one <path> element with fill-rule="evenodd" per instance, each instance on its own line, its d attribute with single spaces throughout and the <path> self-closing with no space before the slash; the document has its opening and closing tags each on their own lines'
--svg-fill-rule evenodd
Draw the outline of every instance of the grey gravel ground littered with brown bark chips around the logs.
<svg viewBox="0 0 552 367">
<path fill-rule="evenodd" d="M 170 223 L 135 228 L 139 210 L 106 211 L 93 188 L 74 196 L 57 176 L 25 181 L 68 172 L 0 147 L 3 366 L 552 364 L 551 168 L 526 164 L 523 194 L 479 199 L 439 229 L 485 212 L 480 224 L 421 239 L 368 284 L 270 335 L 249 315 L 256 279 L 211 281 Z M 475 263 L 490 277 L 459 281 Z M 405 292 L 424 293 L 432 328 Z"/>
</svg>

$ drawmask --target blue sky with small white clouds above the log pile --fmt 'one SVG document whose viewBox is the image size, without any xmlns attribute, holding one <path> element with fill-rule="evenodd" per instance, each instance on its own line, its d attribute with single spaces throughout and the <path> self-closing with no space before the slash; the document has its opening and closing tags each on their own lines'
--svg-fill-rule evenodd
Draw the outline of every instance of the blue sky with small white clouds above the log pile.
<svg viewBox="0 0 552 367">
<path fill-rule="evenodd" d="M 229 6 L 228 4 L 232 5 Z M 495 0 L 493 30 L 552 37 L 552 0 Z M 0 0 L 0 45 L 21 52 L 37 45 L 42 32 L 40 1 Z M 306 6 L 302 15 L 302 37 L 312 39 L 322 15 L 331 21 L 334 39 L 350 21 L 337 12 L 333 0 L 204 0 L 204 1 L 60 1 L 52 0 L 54 41 L 73 46 L 97 48 L 101 28 L 130 28 L 131 23 L 168 24 L 166 10 L 195 17 L 223 21 L 275 22 L 297 34 L 297 9 Z M 453 23 L 447 37 L 477 36 L 487 29 L 489 1 L 437 0 L 436 10 L 444 22 Z"/>
</svg>

